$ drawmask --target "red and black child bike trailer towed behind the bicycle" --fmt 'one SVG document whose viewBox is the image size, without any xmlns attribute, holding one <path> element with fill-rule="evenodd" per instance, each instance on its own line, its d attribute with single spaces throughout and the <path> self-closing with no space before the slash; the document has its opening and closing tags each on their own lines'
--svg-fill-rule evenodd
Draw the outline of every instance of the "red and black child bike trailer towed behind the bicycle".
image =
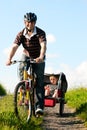
<svg viewBox="0 0 87 130">
<path fill-rule="evenodd" d="M 67 87 L 68 87 L 66 76 L 63 72 L 61 72 L 59 74 L 45 74 L 44 75 L 44 86 L 48 85 L 48 84 L 51 85 L 50 80 L 49 80 L 49 77 L 51 75 L 54 75 L 58 78 L 58 84 L 56 85 L 57 89 L 58 89 L 58 98 L 46 96 L 44 98 L 44 106 L 45 107 L 55 107 L 56 103 L 59 103 L 58 113 L 60 114 L 60 116 L 63 116 L 64 104 L 65 104 L 65 93 L 66 93 Z"/>
</svg>

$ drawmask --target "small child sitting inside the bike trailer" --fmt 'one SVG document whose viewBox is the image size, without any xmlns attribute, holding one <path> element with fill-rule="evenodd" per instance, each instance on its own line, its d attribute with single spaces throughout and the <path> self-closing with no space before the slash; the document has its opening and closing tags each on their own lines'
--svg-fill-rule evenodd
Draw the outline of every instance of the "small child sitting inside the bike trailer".
<svg viewBox="0 0 87 130">
<path fill-rule="evenodd" d="M 58 97 L 58 90 L 57 90 L 57 83 L 58 83 L 58 78 L 55 75 L 51 75 L 49 77 L 50 83 L 54 86 L 54 88 L 51 88 L 50 85 L 45 86 L 45 96 L 52 96 L 54 98 Z"/>
</svg>

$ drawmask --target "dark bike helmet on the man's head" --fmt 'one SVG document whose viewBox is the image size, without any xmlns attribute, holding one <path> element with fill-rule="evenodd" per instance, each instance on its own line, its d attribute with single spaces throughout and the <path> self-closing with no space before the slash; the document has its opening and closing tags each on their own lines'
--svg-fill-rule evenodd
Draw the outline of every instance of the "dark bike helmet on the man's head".
<svg viewBox="0 0 87 130">
<path fill-rule="evenodd" d="M 37 16 L 34 13 L 26 13 L 24 15 L 24 20 L 27 20 L 28 22 L 36 22 Z"/>
</svg>

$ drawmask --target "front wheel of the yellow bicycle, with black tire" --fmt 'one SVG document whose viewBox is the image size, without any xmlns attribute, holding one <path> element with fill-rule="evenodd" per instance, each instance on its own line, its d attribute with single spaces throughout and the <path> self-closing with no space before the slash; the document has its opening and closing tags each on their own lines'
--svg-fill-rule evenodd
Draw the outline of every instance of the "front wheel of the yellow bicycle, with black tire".
<svg viewBox="0 0 87 130">
<path fill-rule="evenodd" d="M 19 82 L 15 87 L 14 111 L 18 119 L 23 122 L 28 122 L 31 118 L 31 96 L 30 91 L 26 88 L 26 81 Z"/>
</svg>

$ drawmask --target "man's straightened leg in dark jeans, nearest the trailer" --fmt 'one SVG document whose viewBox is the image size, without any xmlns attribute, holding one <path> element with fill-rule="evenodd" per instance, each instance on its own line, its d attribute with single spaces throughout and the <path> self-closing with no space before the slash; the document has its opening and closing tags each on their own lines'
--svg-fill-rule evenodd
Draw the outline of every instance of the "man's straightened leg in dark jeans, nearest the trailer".
<svg viewBox="0 0 87 130">
<path fill-rule="evenodd" d="M 36 81 L 36 110 L 44 109 L 44 69 L 45 63 L 34 65 L 34 72 L 37 75 Z"/>
</svg>

